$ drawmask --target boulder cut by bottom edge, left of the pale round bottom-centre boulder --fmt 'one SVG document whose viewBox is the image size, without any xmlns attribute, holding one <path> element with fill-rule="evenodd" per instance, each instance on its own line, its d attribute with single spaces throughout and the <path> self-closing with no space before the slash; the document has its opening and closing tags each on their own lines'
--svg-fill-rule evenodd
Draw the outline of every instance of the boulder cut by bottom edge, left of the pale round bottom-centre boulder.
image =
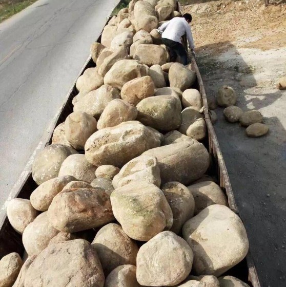
<svg viewBox="0 0 286 287">
<path fill-rule="evenodd" d="M 140 287 L 136 280 L 136 266 L 126 264 L 116 267 L 106 278 L 105 287 Z"/>
</svg>

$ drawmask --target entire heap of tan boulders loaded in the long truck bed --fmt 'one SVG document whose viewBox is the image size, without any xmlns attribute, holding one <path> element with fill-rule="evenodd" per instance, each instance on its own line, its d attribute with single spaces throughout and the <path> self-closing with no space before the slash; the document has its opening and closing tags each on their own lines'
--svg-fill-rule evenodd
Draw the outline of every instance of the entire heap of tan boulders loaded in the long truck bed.
<svg viewBox="0 0 286 287">
<path fill-rule="evenodd" d="M 28 259 L 4 257 L 0 286 L 248 286 L 225 276 L 249 242 L 205 175 L 196 74 L 156 31 L 179 15 L 175 0 L 132 0 L 92 45 L 96 67 L 33 163 L 38 187 L 7 205 Z"/>
</svg>

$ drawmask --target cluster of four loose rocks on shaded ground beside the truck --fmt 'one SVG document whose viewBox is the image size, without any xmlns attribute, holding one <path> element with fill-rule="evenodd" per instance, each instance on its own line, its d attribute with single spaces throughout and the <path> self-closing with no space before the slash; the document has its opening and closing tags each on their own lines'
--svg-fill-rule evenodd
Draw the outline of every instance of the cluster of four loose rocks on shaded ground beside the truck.
<svg viewBox="0 0 286 287">
<path fill-rule="evenodd" d="M 249 110 L 243 112 L 241 108 L 235 106 L 237 95 L 235 90 L 229 86 L 222 86 L 218 89 L 216 101 L 223 110 L 223 115 L 230 123 L 239 122 L 241 126 L 246 127 L 246 134 L 249 137 L 257 138 L 264 136 L 269 131 L 269 126 L 262 123 L 263 117 L 258 110 Z"/>
</svg>

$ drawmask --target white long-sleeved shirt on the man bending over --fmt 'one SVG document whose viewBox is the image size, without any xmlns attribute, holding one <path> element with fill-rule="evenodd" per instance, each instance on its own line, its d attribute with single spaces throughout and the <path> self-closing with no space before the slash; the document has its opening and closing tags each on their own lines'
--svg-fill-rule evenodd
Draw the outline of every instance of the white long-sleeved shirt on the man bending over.
<svg viewBox="0 0 286 287">
<path fill-rule="evenodd" d="M 161 25 L 158 30 L 160 33 L 163 32 L 162 38 L 173 40 L 178 43 L 181 43 L 181 36 L 187 34 L 189 47 L 191 49 L 195 48 L 191 27 L 187 20 L 183 17 L 173 18 L 172 20 Z"/>
</svg>

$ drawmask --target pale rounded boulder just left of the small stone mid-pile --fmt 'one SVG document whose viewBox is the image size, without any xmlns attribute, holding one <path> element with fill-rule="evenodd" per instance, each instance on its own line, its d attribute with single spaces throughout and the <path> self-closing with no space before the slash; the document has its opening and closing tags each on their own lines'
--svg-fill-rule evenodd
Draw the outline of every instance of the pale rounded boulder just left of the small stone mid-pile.
<svg viewBox="0 0 286 287">
<path fill-rule="evenodd" d="M 92 182 L 95 179 L 94 166 L 87 161 L 85 155 L 71 155 L 65 159 L 59 169 L 59 176 L 72 176 L 74 179 Z"/>
</svg>

